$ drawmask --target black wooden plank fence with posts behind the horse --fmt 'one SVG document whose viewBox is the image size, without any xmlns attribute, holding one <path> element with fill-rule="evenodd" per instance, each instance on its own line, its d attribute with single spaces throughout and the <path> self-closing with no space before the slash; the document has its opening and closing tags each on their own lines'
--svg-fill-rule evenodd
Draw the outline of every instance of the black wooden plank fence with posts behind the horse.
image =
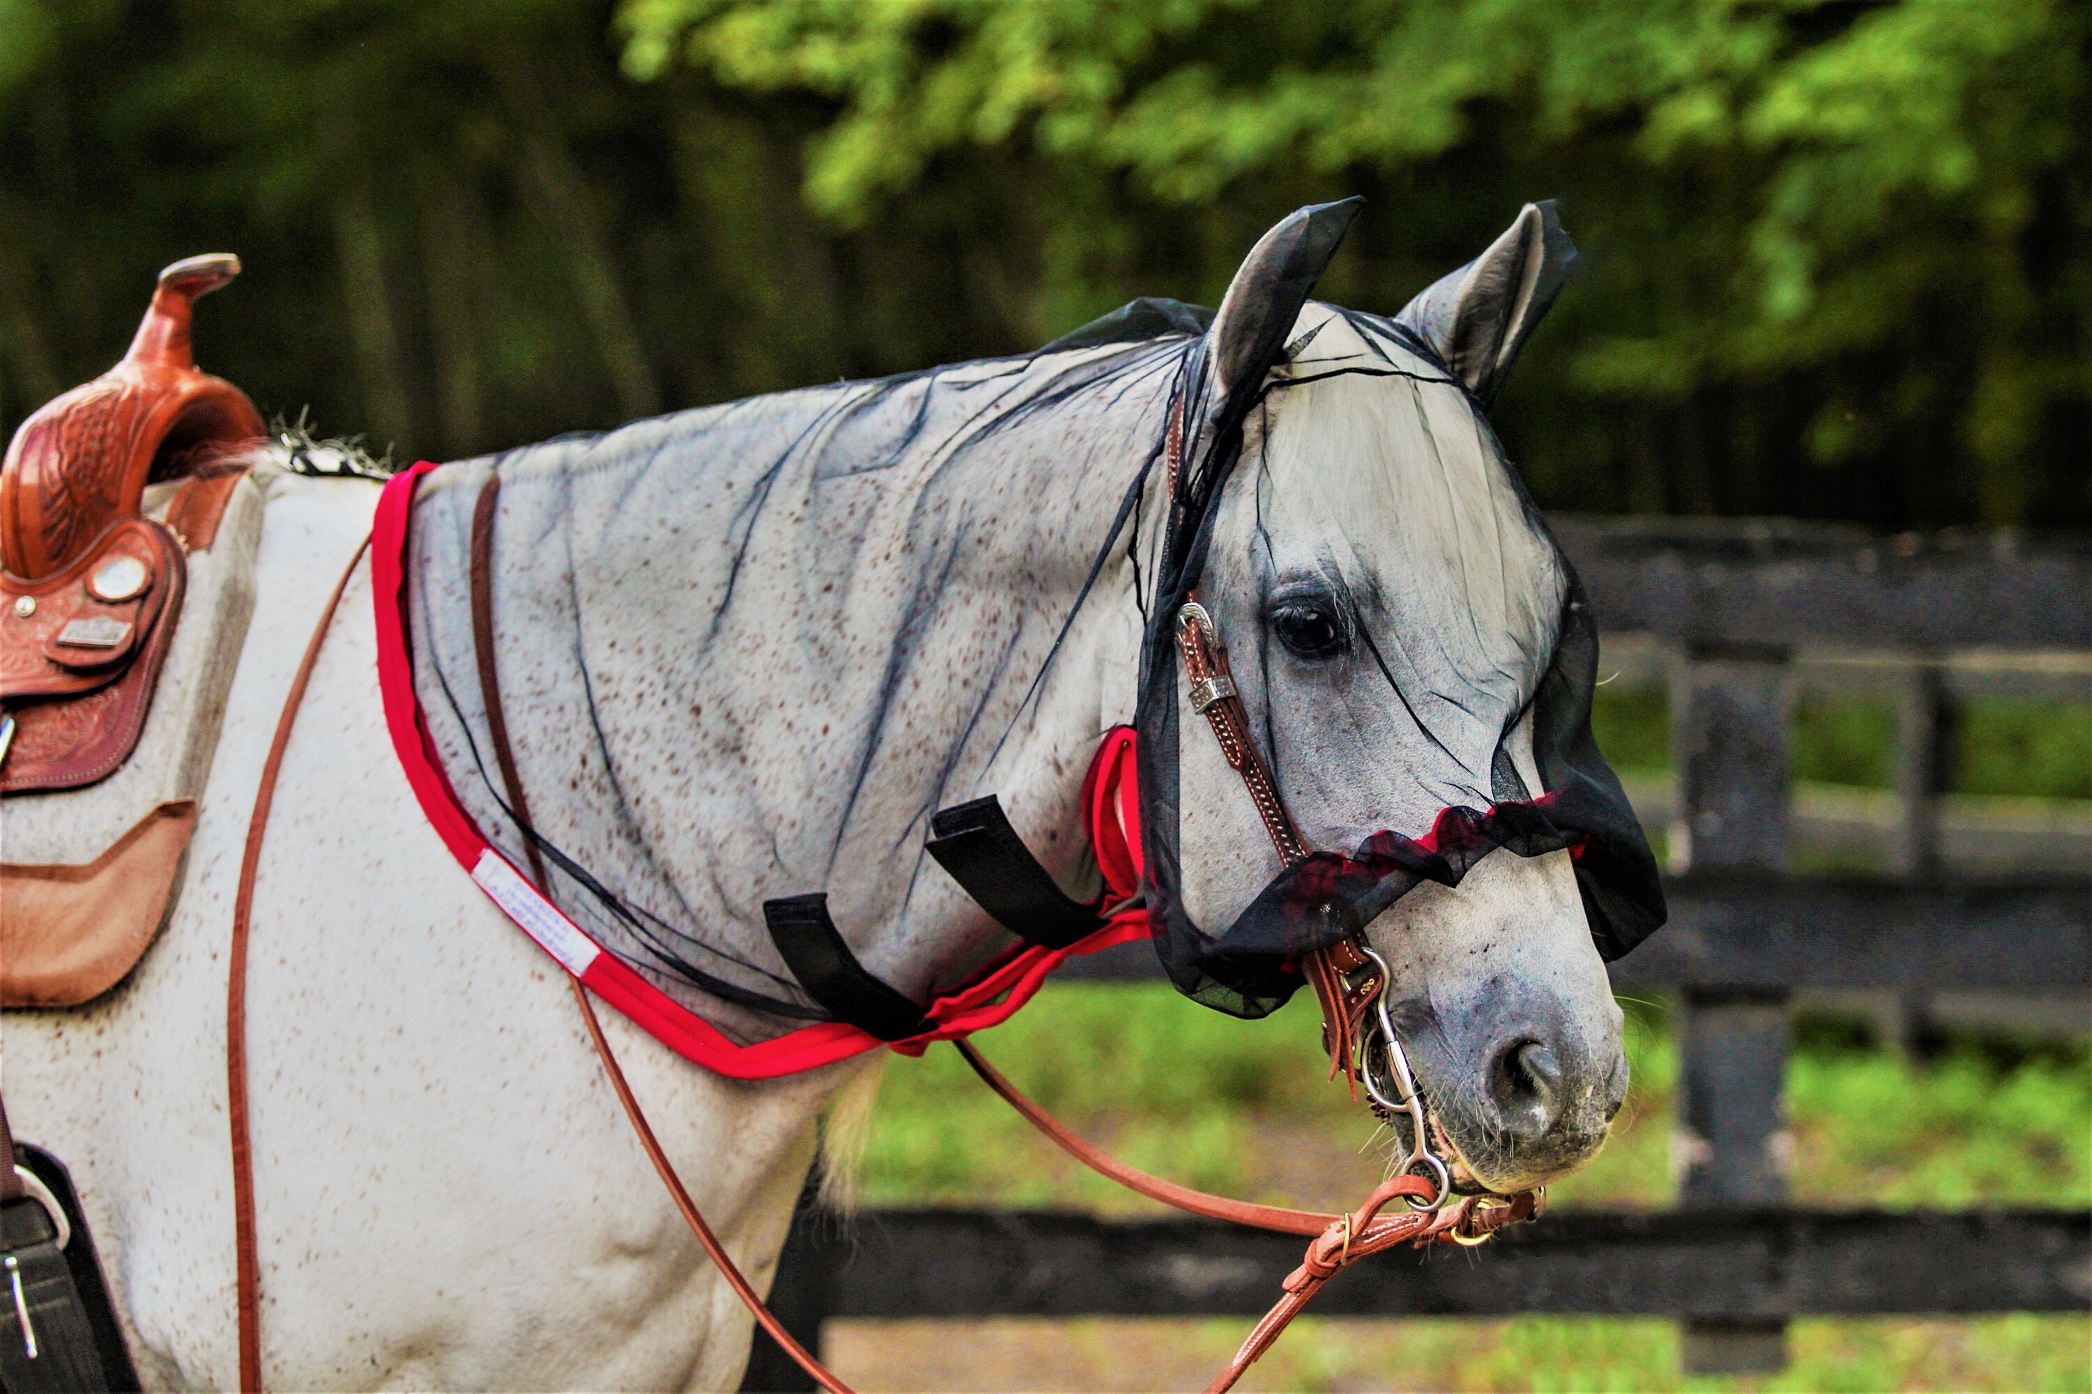
<svg viewBox="0 0 2092 1394">
<path fill-rule="evenodd" d="M 1695 1373 L 1784 1363 L 1797 1315 L 2092 1308 L 2092 1214 L 1787 1208 L 1789 999 L 1803 989 L 2092 993 L 2092 865 L 1969 884 L 1939 855 L 1948 750 L 1979 696 L 2092 700 L 2092 537 L 1881 539 L 1801 522 L 1554 518 L 1600 631 L 1669 688 L 1672 924 L 1613 966 L 1678 991 L 1680 1208 L 1552 1214 L 1483 1250 L 1385 1254 L 1322 1315 L 1657 1315 Z M 1895 702 L 1887 876 L 1789 872 L 1799 681 Z M 1153 978 L 1128 945 L 1071 978 Z M 776 1306 L 828 1317 L 1261 1315 L 1299 1239 L 1192 1221 L 801 1210 Z M 745 1388 L 812 1388 L 757 1340 Z"/>
</svg>

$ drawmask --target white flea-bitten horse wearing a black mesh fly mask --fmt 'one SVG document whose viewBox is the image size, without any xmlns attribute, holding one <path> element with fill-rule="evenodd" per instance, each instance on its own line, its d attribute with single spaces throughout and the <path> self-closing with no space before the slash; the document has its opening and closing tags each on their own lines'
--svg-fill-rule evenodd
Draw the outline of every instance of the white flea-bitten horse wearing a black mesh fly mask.
<svg viewBox="0 0 2092 1394">
<path fill-rule="evenodd" d="M 1134 719 L 1144 635 L 1151 669 L 1167 654 L 1151 623 L 1169 564 L 1157 456 L 1178 399 L 1186 472 L 1218 458 L 1228 412 L 1238 424 L 1238 451 L 1220 449 L 1243 464 L 1205 477 L 1201 598 L 1310 844 L 1420 836 L 1477 788 L 1483 805 L 1554 788 L 1533 713 L 1573 581 L 1481 405 L 1567 242 L 1527 209 L 1389 322 L 1301 303 L 1328 255 L 1301 253 L 1303 217 L 1259 242 L 1203 332 L 1134 313 L 1021 359 L 427 477 L 416 690 L 467 809 L 521 865 L 500 786 L 469 777 L 485 715 L 462 548 L 498 470 L 500 677 L 546 842 L 743 986 L 808 1001 L 759 913 L 805 890 L 831 895 L 900 991 L 962 982 L 1013 940 L 920 855 L 931 809 L 996 792 L 1061 884 L 1096 892 L 1077 798 L 1098 736 Z M 69 1162 L 153 1388 L 236 1379 L 234 880 L 291 673 L 377 497 L 266 462 L 257 479 L 259 602 L 224 656 L 238 671 L 172 920 L 90 1007 L 6 1018 L 17 1135 Z M 452 861 L 402 777 L 370 604 L 364 562 L 297 715 L 253 903 L 266 1384 L 734 1388 L 749 1317 L 626 1126 L 565 974 Z M 1203 723 L 1184 706 L 1176 725 L 1178 901 L 1222 926 L 1280 867 Z M 554 874 L 554 899 L 584 915 L 571 878 Z M 1456 886 L 1374 905 L 1370 940 L 1469 1181 L 1561 1175 L 1619 1106 L 1588 899 L 1569 853 L 1494 851 Z M 1205 968 L 1180 982 L 1211 986 Z M 734 1041 L 803 1024 L 651 972 Z M 1253 1007 L 1230 991 L 1207 997 Z M 818 1120 L 831 1110 L 831 1137 L 862 1120 L 874 1055 L 736 1083 L 602 1016 L 690 1195 L 766 1285 Z"/>
</svg>

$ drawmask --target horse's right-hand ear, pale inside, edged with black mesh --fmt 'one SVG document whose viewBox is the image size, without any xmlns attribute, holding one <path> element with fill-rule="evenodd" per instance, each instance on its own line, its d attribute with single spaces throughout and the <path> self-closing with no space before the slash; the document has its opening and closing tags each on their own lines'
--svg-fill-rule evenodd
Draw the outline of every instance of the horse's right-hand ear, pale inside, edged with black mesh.
<svg viewBox="0 0 2092 1394">
<path fill-rule="evenodd" d="M 1416 330 L 1487 408 L 1573 265 L 1554 201 L 1527 203 L 1490 251 L 1433 282 L 1395 324 Z"/>
</svg>

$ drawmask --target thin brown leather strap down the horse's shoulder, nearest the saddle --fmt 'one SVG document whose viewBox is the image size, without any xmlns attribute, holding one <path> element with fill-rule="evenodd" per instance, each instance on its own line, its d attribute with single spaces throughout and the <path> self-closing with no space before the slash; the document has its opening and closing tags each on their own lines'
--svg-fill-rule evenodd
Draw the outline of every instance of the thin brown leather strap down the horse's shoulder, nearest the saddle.
<svg viewBox="0 0 2092 1394">
<path fill-rule="evenodd" d="M 349 577 L 356 575 L 356 566 L 368 550 L 370 537 L 356 543 L 356 556 L 335 581 L 335 594 L 326 598 L 320 623 L 312 627 L 312 640 L 305 642 L 305 656 L 297 660 L 291 692 L 282 698 L 282 715 L 276 717 L 276 736 L 262 763 L 262 784 L 255 788 L 255 811 L 247 819 L 247 846 L 241 851 L 241 880 L 232 899 L 232 949 L 226 970 L 226 1120 L 232 1129 L 232 1250 L 238 1271 L 234 1306 L 243 1394 L 255 1394 L 262 1388 L 262 1262 L 255 1244 L 255 1164 L 247 1133 L 247 940 L 255 905 L 255 876 L 262 869 L 268 811 L 276 800 L 276 775 L 282 771 L 282 752 L 291 744 L 297 708 L 305 700 L 305 683 L 312 681 L 312 669 L 320 660 L 320 646 L 326 644 L 341 594 L 349 589 Z"/>
</svg>

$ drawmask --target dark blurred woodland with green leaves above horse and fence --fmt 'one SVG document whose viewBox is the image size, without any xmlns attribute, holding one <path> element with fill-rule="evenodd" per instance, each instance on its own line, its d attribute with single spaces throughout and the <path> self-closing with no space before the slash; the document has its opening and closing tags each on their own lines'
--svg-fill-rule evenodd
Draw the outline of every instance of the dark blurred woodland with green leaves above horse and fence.
<svg viewBox="0 0 2092 1394">
<path fill-rule="evenodd" d="M 0 0 L 0 428 L 238 251 L 205 364 L 395 458 L 1213 303 L 1395 309 L 1561 196 L 1546 506 L 2092 525 L 2092 6 Z"/>
</svg>

